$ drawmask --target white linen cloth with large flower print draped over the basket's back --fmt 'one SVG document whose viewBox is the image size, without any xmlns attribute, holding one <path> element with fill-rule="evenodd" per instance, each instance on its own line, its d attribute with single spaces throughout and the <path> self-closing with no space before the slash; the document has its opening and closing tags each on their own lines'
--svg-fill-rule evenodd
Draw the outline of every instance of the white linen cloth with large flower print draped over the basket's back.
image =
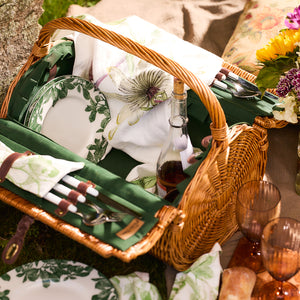
<svg viewBox="0 0 300 300">
<path fill-rule="evenodd" d="M 220 57 L 137 16 L 110 24 L 104 24 L 89 15 L 83 18 L 173 59 L 208 85 L 222 66 L 223 60 Z M 170 98 L 173 88 L 171 75 L 87 35 L 76 32 L 68 38 L 75 43 L 73 75 L 84 78 L 92 75 L 95 85 L 107 97 L 111 121 L 104 130 L 104 136 L 109 144 L 137 161 L 155 164 L 169 130 L 170 105 L 169 101 L 164 100 Z M 143 84 L 147 87 L 149 81 L 158 79 L 162 81 L 157 83 L 160 90 L 152 101 L 132 109 L 128 99 L 131 97 L 132 100 L 136 96 L 135 100 L 139 102 L 141 93 L 137 90 L 142 89 Z M 162 103 L 157 105 L 159 102 Z"/>
</svg>

